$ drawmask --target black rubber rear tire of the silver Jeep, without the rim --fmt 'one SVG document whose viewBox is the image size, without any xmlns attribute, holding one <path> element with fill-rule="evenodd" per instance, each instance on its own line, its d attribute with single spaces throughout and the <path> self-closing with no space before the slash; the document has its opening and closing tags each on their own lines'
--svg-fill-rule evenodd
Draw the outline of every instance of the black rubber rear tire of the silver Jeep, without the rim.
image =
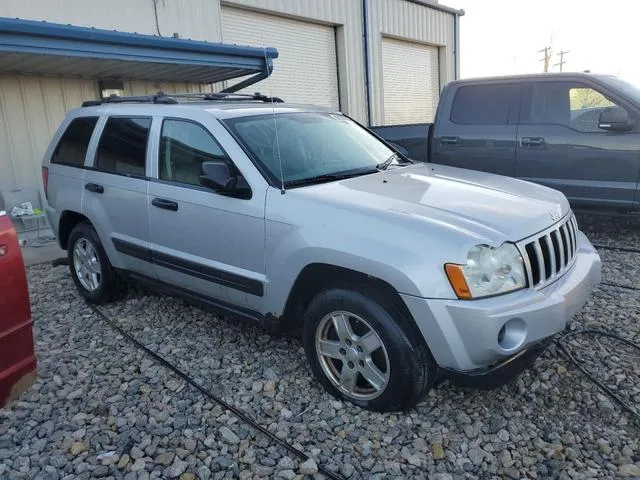
<svg viewBox="0 0 640 480">
<path fill-rule="evenodd" d="M 84 288 L 84 286 L 78 279 L 78 275 L 76 274 L 75 265 L 73 262 L 73 250 L 75 249 L 76 243 L 78 243 L 78 241 L 83 238 L 89 241 L 95 249 L 98 256 L 98 261 L 100 262 L 100 270 L 102 272 L 100 286 L 93 292 L 90 292 L 89 290 Z M 79 223 L 73 228 L 71 234 L 69 235 L 67 255 L 69 258 L 69 270 L 71 271 L 73 282 L 76 284 L 76 287 L 78 288 L 80 294 L 87 301 L 100 304 L 113 299 L 113 294 L 116 289 L 116 273 L 113 270 L 111 263 L 109 262 L 104 248 L 102 248 L 102 243 L 98 238 L 98 234 L 89 223 Z"/>
</svg>

